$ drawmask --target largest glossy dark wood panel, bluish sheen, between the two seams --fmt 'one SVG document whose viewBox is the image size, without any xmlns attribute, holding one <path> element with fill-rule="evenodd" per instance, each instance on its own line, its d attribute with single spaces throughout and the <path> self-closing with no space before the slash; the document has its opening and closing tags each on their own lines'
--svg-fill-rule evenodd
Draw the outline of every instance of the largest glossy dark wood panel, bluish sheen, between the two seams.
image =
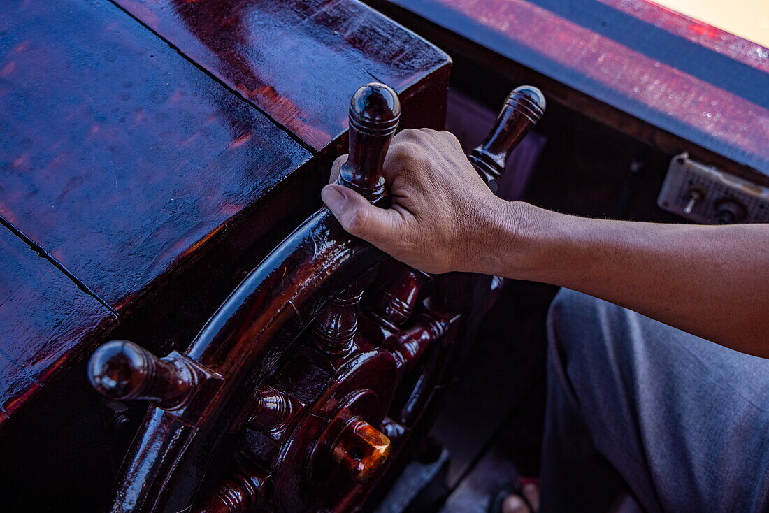
<svg viewBox="0 0 769 513">
<path fill-rule="evenodd" d="M 118 311 L 311 160 L 110 2 L 10 0 L 0 32 L 0 212 Z"/>
</svg>

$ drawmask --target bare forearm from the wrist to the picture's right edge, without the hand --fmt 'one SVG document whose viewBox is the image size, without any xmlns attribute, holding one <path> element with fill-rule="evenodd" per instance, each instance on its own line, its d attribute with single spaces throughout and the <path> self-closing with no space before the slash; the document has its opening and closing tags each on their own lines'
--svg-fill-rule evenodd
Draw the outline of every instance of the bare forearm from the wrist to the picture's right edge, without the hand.
<svg viewBox="0 0 769 513">
<path fill-rule="evenodd" d="M 608 221 L 509 205 L 511 227 L 491 242 L 488 271 L 573 288 L 769 357 L 769 226 Z"/>
</svg>

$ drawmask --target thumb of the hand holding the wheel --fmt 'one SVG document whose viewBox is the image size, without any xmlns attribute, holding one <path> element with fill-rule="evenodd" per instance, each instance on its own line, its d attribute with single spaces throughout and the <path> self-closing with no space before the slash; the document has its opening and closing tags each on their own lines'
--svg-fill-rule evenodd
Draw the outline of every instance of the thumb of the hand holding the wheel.
<svg viewBox="0 0 769 513">
<path fill-rule="evenodd" d="M 392 232 L 393 220 L 388 211 L 371 205 L 351 188 L 329 184 L 321 191 L 321 198 L 351 235 L 376 244 Z"/>
</svg>

